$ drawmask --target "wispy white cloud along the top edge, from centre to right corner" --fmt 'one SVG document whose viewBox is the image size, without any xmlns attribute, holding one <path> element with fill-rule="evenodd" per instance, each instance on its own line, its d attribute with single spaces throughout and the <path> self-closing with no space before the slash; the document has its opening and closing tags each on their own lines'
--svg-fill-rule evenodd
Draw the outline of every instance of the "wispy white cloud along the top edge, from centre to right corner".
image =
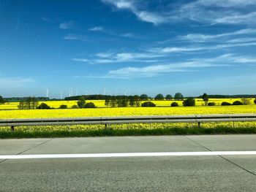
<svg viewBox="0 0 256 192">
<path fill-rule="evenodd" d="M 253 11 L 256 8 L 255 0 L 197 0 L 182 4 L 180 7 L 175 7 L 174 9 L 167 5 L 154 11 L 146 7 L 145 1 L 102 0 L 102 2 L 111 4 L 116 9 L 127 9 L 134 13 L 139 20 L 153 23 L 154 25 L 180 22 L 188 19 L 210 24 L 246 23 L 252 25 L 256 22 L 256 12 Z M 144 6 L 140 6 L 140 4 L 144 4 Z"/>
</svg>

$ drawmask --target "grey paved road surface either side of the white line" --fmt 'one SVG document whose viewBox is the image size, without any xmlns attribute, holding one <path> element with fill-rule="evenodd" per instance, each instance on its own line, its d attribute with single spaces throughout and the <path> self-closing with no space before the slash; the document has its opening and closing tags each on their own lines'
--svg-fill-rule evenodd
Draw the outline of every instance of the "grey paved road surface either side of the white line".
<svg viewBox="0 0 256 192">
<path fill-rule="evenodd" d="M 256 151 L 256 135 L 0 139 L 0 158 L 209 151 Z M 256 191 L 256 155 L 0 159 L 0 191 Z"/>
</svg>

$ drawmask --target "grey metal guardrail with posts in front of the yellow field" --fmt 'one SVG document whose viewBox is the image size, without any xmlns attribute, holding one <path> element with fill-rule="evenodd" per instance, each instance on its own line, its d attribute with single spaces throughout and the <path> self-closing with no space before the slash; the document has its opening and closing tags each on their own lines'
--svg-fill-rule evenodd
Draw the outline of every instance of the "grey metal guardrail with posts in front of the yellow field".
<svg viewBox="0 0 256 192">
<path fill-rule="evenodd" d="M 0 119 L 0 126 L 61 126 L 61 125 L 93 125 L 127 123 L 200 123 L 203 122 L 237 122 L 256 121 L 255 114 L 223 114 L 223 115 L 154 115 L 124 117 L 92 117 L 92 118 L 37 118 L 37 119 Z"/>
</svg>

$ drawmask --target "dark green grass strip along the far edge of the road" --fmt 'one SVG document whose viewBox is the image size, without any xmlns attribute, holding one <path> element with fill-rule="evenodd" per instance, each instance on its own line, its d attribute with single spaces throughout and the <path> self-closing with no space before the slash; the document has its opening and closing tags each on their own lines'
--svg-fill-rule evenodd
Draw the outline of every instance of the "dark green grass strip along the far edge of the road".
<svg viewBox="0 0 256 192">
<path fill-rule="evenodd" d="M 256 134 L 256 127 L 215 127 L 215 128 L 99 128 L 86 130 L 52 131 L 7 131 L 0 130 L 0 138 L 45 138 L 45 137 L 115 137 L 150 135 L 200 135 L 200 134 Z"/>
</svg>

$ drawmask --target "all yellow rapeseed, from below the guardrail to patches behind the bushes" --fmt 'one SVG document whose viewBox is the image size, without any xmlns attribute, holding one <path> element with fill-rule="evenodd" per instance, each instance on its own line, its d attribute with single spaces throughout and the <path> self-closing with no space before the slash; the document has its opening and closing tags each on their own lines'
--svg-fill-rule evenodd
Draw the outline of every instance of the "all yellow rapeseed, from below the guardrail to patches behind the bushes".
<svg viewBox="0 0 256 192">
<path fill-rule="evenodd" d="M 197 99 L 197 106 L 195 107 L 170 107 L 170 103 L 173 101 L 154 101 L 157 107 L 105 107 L 103 100 L 92 101 L 97 105 L 97 108 L 87 109 L 58 109 L 59 105 L 67 104 L 68 107 L 77 104 L 77 101 L 47 101 L 46 103 L 50 107 L 56 109 L 50 110 L 11 110 L 18 103 L 10 103 L 0 105 L 0 119 L 12 119 L 12 118 L 75 118 L 75 117 L 99 117 L 99 116 L 132 116 L 132 115 L 203 115 L 203 114 L 242 114 L 242 113 L 255 113 L 256 105 L 241 105 L 241 106 L 219 106 L 218 103 L 222 101 L 229 101 L 232 103 L 238 99 L 211 99 L 217 106 L 203 106 L 203 101 Z M 178 101 L 181 105 L 182 101 Z M 3 107 L 4 106 L 4 107 Z M 7 106 L 10 106 L 9 108 Z M 15 108 L 16 109 L 16 108 Z M 138 123 L 138 124 L 125 124 L 125 125 L 112 125 L 111 128 L 115 131 L 125 130 L 159 130 L 162 128 L 190 128 L 197 126 L 192 123 L 152 123 L 151 125 Z M 203 128 L 233 128 L 233 123 L 203 123 Z M 236 122 L 236 127 L 242 128 L 255 128 L 255 122 Z M 53 131 L 86 131 L 91 133 L 95 130 L 104 130 L 103 125 L 90 125 L 90 126 L 34 126 L 34 127 L 17 127 L 16 130 L 28 133 L 45 133 L 44 137 L 51 137 L 50 133 Z M 8 127 L 0 127 L 0 132 L 10 132 Z M 7 132 L 6 132 L 7 131 Z M 1 136 L 0 136 L 1 137 Z M 4 138 L 4 136 L 2 136 Z"/>
</svg>

